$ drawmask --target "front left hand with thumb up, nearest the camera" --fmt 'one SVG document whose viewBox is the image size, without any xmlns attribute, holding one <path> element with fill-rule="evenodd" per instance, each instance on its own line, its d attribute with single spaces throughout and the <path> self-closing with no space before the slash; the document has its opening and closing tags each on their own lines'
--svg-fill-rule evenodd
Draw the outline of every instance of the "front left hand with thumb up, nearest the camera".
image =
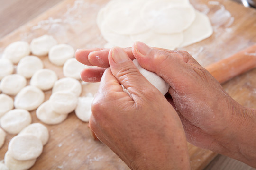
<svg viewBox="0 0 256 170">
<path fill-rule="evenodd" d="M 190 168 L 182 123 L 121 48 L 109 52 L 89 121 L 96 136 L 133 170 Z M 131 93 L 123 92 L 121 85 Z"/>
</svg>

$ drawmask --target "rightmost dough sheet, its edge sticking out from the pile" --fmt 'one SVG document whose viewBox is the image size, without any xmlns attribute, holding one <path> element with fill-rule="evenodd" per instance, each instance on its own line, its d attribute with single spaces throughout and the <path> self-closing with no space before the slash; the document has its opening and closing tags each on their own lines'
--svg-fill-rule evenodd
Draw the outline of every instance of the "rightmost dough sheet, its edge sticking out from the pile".
<svg viewBox="0 0 256 170">
<path fill-rule="evenodd" d="M 180 46 L 184 47 L 195 42 L 200 42 L 201 40 L 210 37 L 212 33 L 213 29 L 209 18 L 205 14 L 196 11 L 194 22 L 183 32 L 184 39 Z"/>
</svg>

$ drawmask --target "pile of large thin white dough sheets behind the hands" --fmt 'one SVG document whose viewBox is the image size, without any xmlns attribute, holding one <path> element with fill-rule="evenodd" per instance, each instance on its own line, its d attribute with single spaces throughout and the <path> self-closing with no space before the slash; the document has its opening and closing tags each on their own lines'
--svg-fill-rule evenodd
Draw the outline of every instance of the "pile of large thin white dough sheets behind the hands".
<svg viewBox="0 0 256 170">
<path fill-rule="evenodd" d="M 99 11 L 97 25 L 108 41 L 105 47 L 128 47 L 142 41 L 176 49 L 213 32 L 208 17 L 189 0 L 111 0 Z"/>
</svg>

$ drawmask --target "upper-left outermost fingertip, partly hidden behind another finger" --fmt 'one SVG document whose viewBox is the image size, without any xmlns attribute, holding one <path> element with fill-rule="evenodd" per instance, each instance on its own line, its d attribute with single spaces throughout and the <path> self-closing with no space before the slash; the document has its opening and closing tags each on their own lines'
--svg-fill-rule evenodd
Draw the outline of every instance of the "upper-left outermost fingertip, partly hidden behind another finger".
<svg viewBox="0 0 256 170">
<path fill-rule="evenodd" d="M 94 48 L 94 49 L 77 49 L 75 51 L 75 59 L 82 64 L 88 65 L 88 66 L 93 66 L 90 61 L 88 60 L 88 55 L 92 51 L 99 51 L 102 50 L 102 48 Z"/>
</svg>

